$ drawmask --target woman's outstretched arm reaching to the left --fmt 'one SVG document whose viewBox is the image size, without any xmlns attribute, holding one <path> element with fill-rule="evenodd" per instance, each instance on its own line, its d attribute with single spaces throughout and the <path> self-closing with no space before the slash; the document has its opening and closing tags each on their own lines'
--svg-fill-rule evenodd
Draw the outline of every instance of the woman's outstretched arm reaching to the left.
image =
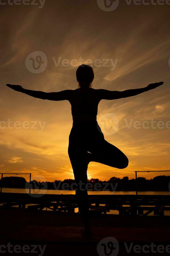
<svg viewBox="0 0 170 256">
<path fill-rule="evenodd" d="M 39 98 L 42 100 L 51 100 L 51 101 L 62 101 L 62 100 L 69 100 L 70 93 L 72 90 L 64 90 L 59 92 L 43 92 L 43 91 L 32 91 L 22 88 L 21 85 L 12 85 L 12 84 L 6 84 L 9 88 L 23 92 L 27 95 L 30 95 L 35 98 Z"/>
</svg>

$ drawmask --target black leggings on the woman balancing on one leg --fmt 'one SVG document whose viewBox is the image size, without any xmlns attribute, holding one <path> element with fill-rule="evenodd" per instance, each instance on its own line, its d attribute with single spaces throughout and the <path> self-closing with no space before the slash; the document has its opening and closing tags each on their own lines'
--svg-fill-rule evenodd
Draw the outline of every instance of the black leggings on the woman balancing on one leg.
<svg viewBox="0 0 170 256">
<path fill-rule="evenodd" d="M 68 154 L 77 184 L 76 199 L 79 212 L 82 216 L 86 216 L 89 211 L 89 201 L 85 184 L 88 182 L 89 162 L 123 169 L 128 166 L 128 158 L 120 149 L 104 139 L 97 122 L 88 126 L 73 124 L 69 135 Z"/>
</svg>

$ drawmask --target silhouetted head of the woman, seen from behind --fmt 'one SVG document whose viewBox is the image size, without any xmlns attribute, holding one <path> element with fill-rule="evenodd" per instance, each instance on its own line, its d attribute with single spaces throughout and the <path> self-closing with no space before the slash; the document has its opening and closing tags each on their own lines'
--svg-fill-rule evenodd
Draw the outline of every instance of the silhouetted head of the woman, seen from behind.
<svg viewBox="0 0 170 256">
<path fill-rule="evenodd" d="M 79 87 L 91 87 L 94 79 L 93 69 L 89 65 L 83 64 L 77 68 L 76 77 Z"/>
</svg>

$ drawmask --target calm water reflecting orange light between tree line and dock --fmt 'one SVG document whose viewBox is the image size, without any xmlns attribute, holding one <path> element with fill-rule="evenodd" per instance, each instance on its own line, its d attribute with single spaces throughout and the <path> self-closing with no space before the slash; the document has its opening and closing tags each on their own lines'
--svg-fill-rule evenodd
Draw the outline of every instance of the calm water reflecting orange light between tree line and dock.
<svg viewBox="0 0 170 256">
<path fill-rule="evenodd" d="M 7 193 L 29 193 L 28 189 L 19 189 L 19 188 L 2 188 L 2 192 L 7 192 Z M 32 190 L 31 193 L 33 194 L 56 194 L 56 195 L 75 195 L 75 191 L 73 190 L 44 190 L 44 189 L 39 189 L 39 190 Z M 135 191 L 88 191 L 89 195 L 135 195 Z M 143 191 L 143 192 L 138 192 L 139 195 L 170 195 L 170 192 L 168 191 Z M 27 207 L 27 206 L 26 206 Z M 46 210 L 46 208 L 44 208 Z M 48 211 L 52 211 L 50 209 L 47 209 Z M 78 212 L 78 208 L 75 208 L 75 212 Z M 146 211 L 144 211 L 145 213 Z M 118 211 L 116 210 L 110 210 L 108 214 L 119 214 Z M 149 215 L 154 215 L 154 213 L 150 213 Z M 164 211 L 164 215 L 169 215 L 169 211 Z"/>
</svg>

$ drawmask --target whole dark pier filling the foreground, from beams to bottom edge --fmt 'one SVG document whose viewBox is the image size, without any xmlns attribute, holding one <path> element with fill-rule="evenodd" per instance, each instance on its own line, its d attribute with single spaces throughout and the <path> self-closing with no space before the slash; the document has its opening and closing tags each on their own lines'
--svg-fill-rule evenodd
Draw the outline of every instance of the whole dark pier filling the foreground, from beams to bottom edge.
<svg viewBox="0 0 170 256">
<path fill-rule="evenodd" d="M 125 243 L 128 247 L 131 243 L 141 247 L 150 247 L 154 243 L 158 248 L 170 245 L 170 216 L 164 215 L 164 211 L 170 210 L 169 196 L 89 195 L 89 200 L 93 237 L 85 239 L 81 235 L 81 216 L 74 212 L 77 208 L 75 195 L 32 197 L 29 194 L 1 193 L 0 244 L 46 245 L 43 256 L 99 256 L 97 246 L 102 239 L 110 237 L 119 242 L 118 255 L 136 255 L 133 249 L 127 253 Z M 51 211 L 42 211 L 48 208 Z M 117 210 L 119 214 L 106 214 L 111 210 Z"/>
</svg>

